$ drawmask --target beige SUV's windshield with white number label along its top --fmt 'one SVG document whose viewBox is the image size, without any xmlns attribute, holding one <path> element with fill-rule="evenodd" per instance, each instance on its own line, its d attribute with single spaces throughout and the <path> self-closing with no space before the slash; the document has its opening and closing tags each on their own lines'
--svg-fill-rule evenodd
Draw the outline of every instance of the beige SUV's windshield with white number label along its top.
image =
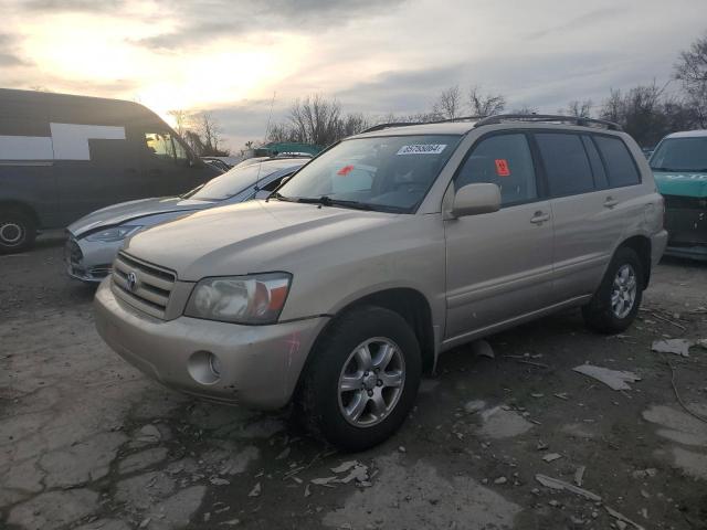
<svg viewBox="0 0 707 530">
<path fill-rule="evenodd" d="M 412 212 L 440 174 L 458 136 L 355 138 L 331 148 L 278 191 L 278 199 Z"/>
</svg>

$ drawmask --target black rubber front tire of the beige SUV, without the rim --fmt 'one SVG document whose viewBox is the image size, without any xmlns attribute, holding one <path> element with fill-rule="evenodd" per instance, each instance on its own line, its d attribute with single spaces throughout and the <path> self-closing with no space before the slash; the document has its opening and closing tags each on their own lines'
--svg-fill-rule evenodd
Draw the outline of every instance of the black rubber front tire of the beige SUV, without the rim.
<svg viewBox="0 0 707 530">
<path fill-rule="evenodd" d="M 382 420 L 357 426 L 347 420 L 339 405 L 339 378 L 355 349 L 372 338 L 384 338 L 398 347 L 404 360 L 404 379 L 397 402 L 381 415 Z M 312 356 L 297 409 L 313 435 L 339 449 L 363 451 L 380 444 L 400 427 L 415 401 L 422 372 L 415 333 L 400 315 L 377 306 L 351 309 L 325 330 Z"/>
</svg>

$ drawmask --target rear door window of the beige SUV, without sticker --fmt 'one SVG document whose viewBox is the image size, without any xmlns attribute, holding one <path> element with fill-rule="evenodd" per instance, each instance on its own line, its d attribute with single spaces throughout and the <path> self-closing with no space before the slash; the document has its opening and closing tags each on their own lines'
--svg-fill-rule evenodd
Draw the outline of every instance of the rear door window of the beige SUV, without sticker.
<svg viewBox="0 0 707 530">
<path fill-rule="evenodd" d="M 551 197 L 574 195 L 594 190 L 594 179 L 582 140 L 578 135 L 535 135 L 545 163 Z"/>
</svg>

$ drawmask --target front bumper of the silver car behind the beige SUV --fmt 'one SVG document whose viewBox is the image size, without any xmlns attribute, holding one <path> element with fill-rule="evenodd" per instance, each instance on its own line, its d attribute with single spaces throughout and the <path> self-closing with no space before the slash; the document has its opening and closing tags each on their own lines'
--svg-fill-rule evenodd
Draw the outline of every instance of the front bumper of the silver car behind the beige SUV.
<svg viewBox="0 0 707 530">
<path fill-rule="evenodd" d="M 77 240 L 70 232 L 64 246 L 64 265 L 68 276 L 97 284 L 110 274 L 112 263 L 124 241 L 112 243 Z"/>
</svg>

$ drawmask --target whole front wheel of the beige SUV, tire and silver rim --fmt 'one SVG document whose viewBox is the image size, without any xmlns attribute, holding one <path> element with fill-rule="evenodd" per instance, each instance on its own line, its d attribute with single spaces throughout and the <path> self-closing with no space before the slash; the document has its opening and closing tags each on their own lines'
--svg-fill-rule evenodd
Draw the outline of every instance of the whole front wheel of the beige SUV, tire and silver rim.
<svg viewBox="0 0 707 530">
<path fill-rule="evenodd" d="M 312 354 L 298 400 L 309 431 L 341 449 L 363 451 L 400 427 L 422 370 L 404 318 L 376 306 L 352 309 Z"/>
</svg>

